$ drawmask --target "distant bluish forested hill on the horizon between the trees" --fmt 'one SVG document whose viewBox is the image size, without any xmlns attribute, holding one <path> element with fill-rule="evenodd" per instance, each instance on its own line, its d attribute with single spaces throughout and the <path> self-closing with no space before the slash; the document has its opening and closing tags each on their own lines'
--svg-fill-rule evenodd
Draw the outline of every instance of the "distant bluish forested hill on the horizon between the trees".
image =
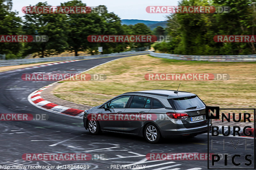
<svg viewBox="0 0 256 170">
<path fill-rule="evenodd" d="M 143 23 L 147 25 L 151 30 L 157 26 L 162 26 L 163 28 L 167 27 L 167 21 L 149 21 L 149 20 L 140 20 L 140 19 L 121 19 L 122 24 L 126 25 L 135 25 L 137 23 Z"/>
</svg>

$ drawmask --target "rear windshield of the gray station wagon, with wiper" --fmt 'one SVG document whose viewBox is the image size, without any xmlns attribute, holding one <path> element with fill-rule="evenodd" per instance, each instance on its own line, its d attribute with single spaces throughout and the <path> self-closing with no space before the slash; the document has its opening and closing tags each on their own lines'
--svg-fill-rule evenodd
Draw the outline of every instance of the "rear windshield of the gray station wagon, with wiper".
<svg viewBox="0 0 256 170">
<path fill-rule="evenodd" d="M 173 102 L 177 110 L 198 109 L 205 106 L 197 96 L 168 99 L 168 101 Z"/>
</svg>

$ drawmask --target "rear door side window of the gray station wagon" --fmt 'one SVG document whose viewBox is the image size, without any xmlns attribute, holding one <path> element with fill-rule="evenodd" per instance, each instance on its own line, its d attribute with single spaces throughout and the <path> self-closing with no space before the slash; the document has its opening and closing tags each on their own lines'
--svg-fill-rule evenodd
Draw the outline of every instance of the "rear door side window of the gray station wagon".
<svg viewBox="0 0 256 170">
<path fill-rule="evenodd" d="M 150 98 L 142 96 L 134 96 L 130 108 L 150 108 Z"/>
</svg>

